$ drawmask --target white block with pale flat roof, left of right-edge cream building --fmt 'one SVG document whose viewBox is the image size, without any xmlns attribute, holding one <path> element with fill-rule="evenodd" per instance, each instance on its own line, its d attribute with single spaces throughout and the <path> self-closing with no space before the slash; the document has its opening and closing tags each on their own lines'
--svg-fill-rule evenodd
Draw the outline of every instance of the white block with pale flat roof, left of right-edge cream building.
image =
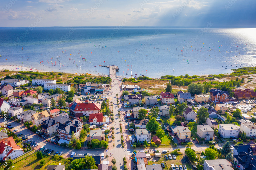
<svg viewBox="0 0 256 170">
<path fill-rule="evenodd" d="M 218 133 L 223 138 L 238 137 L 240 127 L 234 124 L 219 124 Z"/>
</svg>

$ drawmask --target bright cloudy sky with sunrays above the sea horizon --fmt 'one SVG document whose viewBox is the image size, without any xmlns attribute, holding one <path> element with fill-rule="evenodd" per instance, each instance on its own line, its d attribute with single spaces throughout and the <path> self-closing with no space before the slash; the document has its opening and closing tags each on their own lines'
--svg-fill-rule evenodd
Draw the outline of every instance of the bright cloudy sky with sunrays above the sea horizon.
<svg viewBox="0 0 256 170">
<path fill-rule="evenodd" d="M 1 0 L 0 27 L 255 28 L 255 0 Z"/>
</svg>

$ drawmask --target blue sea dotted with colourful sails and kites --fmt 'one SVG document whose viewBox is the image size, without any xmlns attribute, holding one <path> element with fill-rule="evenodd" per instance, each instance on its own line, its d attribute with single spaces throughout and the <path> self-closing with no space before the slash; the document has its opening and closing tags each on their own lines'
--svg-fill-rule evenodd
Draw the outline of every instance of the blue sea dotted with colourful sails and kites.
<svg viewBox="0 0 256 170">
<path fill-rule="evenodd" d="M 256 65 L 255 28 L 0 28 L 0 65 L 74 74 L 205 75 Z M 21 71 L 18 70 L 18 71 Z"/>
</svg>

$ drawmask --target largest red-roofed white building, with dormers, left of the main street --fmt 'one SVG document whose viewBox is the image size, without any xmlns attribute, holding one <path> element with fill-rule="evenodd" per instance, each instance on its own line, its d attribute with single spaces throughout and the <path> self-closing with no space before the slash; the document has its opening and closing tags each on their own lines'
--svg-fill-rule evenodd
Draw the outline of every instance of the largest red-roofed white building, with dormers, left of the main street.
<svg viewBox="0 0 256 170">
<path fill-rule="evenodd" d="M 71 106 L 72 108 L 73 106 Z M 74 117 L 89 116 L 93 113 L 100 112 L 101 105 L 99 103 L 89 103 L 86 100 L 84 103 L 77 103 L 74 108 Z"/>
</svg>

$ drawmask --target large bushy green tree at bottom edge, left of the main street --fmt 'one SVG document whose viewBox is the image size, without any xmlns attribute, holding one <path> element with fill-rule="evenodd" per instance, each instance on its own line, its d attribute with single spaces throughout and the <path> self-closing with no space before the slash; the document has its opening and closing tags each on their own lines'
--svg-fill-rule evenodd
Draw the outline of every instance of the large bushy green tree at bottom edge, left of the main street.
<svg viewBox="0 0 256 170">
<path fill-rule="evenodd" d="M 98 169 L 95 163 L 96 161 L 92 156 L 86 155 L 84 158 L 73 160 L 71 164 L 73 170 Z"/>
</svg>

